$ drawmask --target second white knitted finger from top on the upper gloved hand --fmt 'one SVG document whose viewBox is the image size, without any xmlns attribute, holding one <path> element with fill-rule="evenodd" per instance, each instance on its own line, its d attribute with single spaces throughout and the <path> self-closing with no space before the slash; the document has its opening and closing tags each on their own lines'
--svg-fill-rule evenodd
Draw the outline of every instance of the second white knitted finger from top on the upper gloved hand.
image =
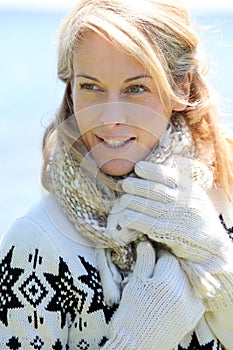
<svg viewBox="0 0 233 350">
<path fill-rule="evenodd" d="M 133 177 L 123 180 L 121 186 L 126 193 L 162 203 L 174 201 L 178 194 L 178 188 L 171 188 L 158 182 Z"/>
</svg>

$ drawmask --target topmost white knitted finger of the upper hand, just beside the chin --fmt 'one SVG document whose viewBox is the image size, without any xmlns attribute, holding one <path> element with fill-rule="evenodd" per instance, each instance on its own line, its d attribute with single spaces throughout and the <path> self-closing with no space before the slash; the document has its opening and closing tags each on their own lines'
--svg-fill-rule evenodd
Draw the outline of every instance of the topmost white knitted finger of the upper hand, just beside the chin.
<svg viewBox="0 0 233 350">
<path fill-rule="evenodd" d="M 161 164 L 140 161 L 135 166 L 135 173 L 142 179 L 151 180 L 175 188 L 179 184 L 179 172 Z"/>
</svg>

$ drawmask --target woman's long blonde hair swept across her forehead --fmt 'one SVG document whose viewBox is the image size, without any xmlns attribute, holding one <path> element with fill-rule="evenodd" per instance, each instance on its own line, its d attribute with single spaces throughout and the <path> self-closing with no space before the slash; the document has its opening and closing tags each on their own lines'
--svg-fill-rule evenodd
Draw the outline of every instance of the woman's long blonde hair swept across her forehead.
<svg viewBox="0 0 233 350">
<path fill-rule="evenodd" d="M 58 77 L 66 84 L 66 89 L 56 119 L 44 135 L 43 184 L 46 185 L 46 168 L 58 135 L 83 157 L 77 145 L 77 134 L 75 136 L 68 120 L 73 114 L 70 97 L 73 52 L 90 30 L 145 66 L 168 111 L 171 100 L 184 102 L 181 83 L 189 74 L 188 105 L 179 113 L 185 118 L 197 145 L 199 142 L 212 145 L 215 182 L 229 196 L 233 183 L 233 145 L 219 128 L 218 108 L 205 79 L 207 66 L 198 55 L 199 38 L 189 12 L 178 0 L 81 0 L 66 17 L 58 42 Z"/>
</svg>

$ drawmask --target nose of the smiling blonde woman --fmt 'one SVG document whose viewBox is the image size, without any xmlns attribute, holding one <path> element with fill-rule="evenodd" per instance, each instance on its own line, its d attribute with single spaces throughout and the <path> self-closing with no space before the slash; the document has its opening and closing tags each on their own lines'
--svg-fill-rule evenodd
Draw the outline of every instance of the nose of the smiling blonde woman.
<svg viewBox="0 0 233 350">
<path fill-rule="evenodd" d="M 108 102 L 102 106 L 100 122 L 106 127 L 113 128 L 126 122 L 126 115 L 122 102 Z"/>
</svg>

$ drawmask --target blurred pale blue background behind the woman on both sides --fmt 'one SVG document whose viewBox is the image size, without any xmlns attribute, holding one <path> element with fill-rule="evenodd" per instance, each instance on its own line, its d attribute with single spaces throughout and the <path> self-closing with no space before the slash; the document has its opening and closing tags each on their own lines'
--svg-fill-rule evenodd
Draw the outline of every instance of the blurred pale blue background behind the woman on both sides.
<svg viewBox="0 0 233 350">
<path fill-rule="evenodd" d="M 224 122 L 233 126 L 233 3 L 185 2 L 202 27 Z M 75 3 L 0 0 L 0 236 L 41 195 L 41 138 L 63 94 L 55 39 Z"/>
</svg>

